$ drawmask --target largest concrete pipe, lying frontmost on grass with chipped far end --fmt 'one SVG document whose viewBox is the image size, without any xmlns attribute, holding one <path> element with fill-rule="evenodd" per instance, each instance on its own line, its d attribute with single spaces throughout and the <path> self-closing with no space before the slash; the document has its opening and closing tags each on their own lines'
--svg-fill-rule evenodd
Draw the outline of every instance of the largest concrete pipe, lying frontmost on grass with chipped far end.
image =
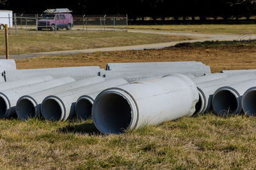
<svg viewBox="0 0 256 170">
<path fill-rule="evenodd" d="M 198 90 L 187 76 L 147 78 L 101 92 L 93 103 L 92 118 L 100 132 L 118 134 L 191 116 L 197 101 Z"/>
</svg>

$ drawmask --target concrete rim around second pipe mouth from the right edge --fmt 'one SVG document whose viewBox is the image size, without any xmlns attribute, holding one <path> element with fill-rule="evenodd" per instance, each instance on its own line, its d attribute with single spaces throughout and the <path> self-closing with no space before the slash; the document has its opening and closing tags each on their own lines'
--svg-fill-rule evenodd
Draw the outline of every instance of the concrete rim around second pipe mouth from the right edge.
<svg viewBox="0 0 256 170">
<path fill-rule="evenodd" d="M 239 114 L 241 113 L 241 110 L 242 110 L 242 107 L 241 107 L 241 99 L 240 99 L 240 94 L 239 92 L 237 92 L 236 89 L 232 88 L 232 87 L 229 87 L 229 86 L 225 86 L 225 87 L 220 87 L 219 89 L 217 89 L 213 96 L 212 96 L 212 108 L 213 110 L 218 114 L 220 115 L 220 113 L 218 113 L 218 111 L 215 110 L 215 107 L 214 107 L 214 97 L 216 96 L 216 94 L 218 94 L 218 92 L 221 92 L 221 91 L 228 91 L 230 92 L 231 94 L 234 95 L 234 97 L 236 97 L 236 102 L 237 102 L 237 108 L 236 110 L 233 111 L 232 114 Z"/>
</svg>

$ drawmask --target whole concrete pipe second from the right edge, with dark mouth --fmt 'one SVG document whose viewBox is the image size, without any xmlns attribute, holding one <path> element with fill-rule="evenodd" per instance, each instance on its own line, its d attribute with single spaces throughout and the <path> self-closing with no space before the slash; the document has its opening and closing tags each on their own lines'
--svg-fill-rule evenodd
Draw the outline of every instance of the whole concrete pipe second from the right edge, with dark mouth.
<svg viewBox="0 0 256 170">
<path fill-rule="evenodd" d="M 256 79 L 220 87 L 212 96 L 212 108 L 218 115 L 239 114 L 241 97 L 246 90 L 256 85 Z"/>
</svg>

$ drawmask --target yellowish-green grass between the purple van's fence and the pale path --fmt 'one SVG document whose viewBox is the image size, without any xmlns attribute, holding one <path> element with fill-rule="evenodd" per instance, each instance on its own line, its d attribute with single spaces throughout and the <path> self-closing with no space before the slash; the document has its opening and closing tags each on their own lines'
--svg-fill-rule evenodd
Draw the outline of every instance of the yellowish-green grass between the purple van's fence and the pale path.
<svg viewBox="0 0 256 170">
<path fill-rule="evenodd" d="M 35 34 L 20 34 L 12 35 L 9 39 L 10 54 L 20 54 L 166 43 L 190 38 L 184 36 L 131 33 L 126 31 L 98 31 L 88 34 L 39 34 L 37 36 Z M 4 55 L 4 53 L 4 31 L 0 31 L 0 55 Z"/>
</svg>

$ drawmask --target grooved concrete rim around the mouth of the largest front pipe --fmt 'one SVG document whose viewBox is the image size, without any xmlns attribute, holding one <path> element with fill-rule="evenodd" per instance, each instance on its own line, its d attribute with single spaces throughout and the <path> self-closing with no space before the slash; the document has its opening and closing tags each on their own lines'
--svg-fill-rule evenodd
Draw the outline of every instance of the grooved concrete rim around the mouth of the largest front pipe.
<svg viewBox="0 0 256 170">
<path fill-rule="evenodd" d="M 120 89 L 118 87 L 113 87 L 113 88 L 103 90 L 95 98 L 95 101 L 94 101 L 93 106 L 92 106 L 92 120 L 93 120 L 93 123 L 94 123 L 95 127 L 97 127 L 97 129 L 102 134 L 111 134 L 110 132 L 106 132 L 103 129 L 101 129 L 99 127 L 98 123 L 97 123 L 97 118 L 95 118 L 95 107 L 97 106 L 97 103 L 98 103 L 100 97 L 102 97 L 106 94 L 117 94 L 119 96 L 124 97 L 124 99 L 127 101 L 127 103 L 129 104 L 129 106 L 131 108 L 131 122 L 130 122 L 129 126 L 127 127 L 127 129 L 135 129 L 137 127 L 138 120 L 139 120 L 138 105 L 137 105 L 136 101 L 134 100 L 134 98 L 131 96 L 131 94 L 129 94 L 129 92 L 127 92 L 124 89 Z"/>
</svg>

